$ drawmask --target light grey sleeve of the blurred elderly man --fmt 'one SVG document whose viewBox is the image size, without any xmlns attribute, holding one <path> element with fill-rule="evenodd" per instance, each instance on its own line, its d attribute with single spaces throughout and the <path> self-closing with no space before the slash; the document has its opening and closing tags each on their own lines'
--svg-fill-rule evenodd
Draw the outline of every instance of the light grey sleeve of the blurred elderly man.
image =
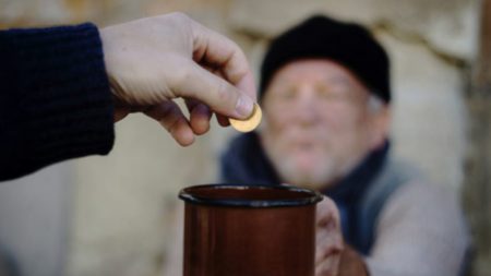
<svg viewBox="0 0 491 276">
<path fill-rule="evenodd" d="M 457 196 L 411 182 L 382 209 L 367 265 L 371 276 L 457 276 L 468 247 Z"/>
</svg>

